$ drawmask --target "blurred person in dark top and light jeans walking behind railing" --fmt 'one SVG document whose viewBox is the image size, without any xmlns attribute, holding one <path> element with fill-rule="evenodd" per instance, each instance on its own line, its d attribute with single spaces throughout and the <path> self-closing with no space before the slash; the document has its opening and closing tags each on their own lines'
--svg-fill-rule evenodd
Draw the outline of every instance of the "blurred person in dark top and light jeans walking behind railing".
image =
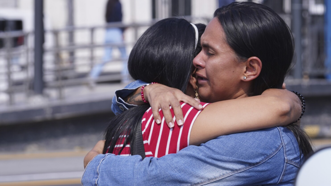
<svg viewBox="0 0 331 186">
<path fill-rule="evenodd" d="M 122 5 L 118 0 L 108 0 L 106 7 L 106 22 L 121 22 L 122 21 Z M 122 44 L 123 38 L 123 28 L 110 27 L 106 29 L 105 44 Z M 121 53 L 121 59 L 123 60 L 122 71 L 121 71 L 121 81 L 127 83 L 127 61 L 126 61 L 126 50 L 124 46 L 119 46 L 118 50 Z M 105 54 L 101 63 L 94 65 L 90 72 L 90 86 L 95 85 L 95 80 L 99 77 L 103 66 L 112 60 L 112 46 L 105 47 Z"/>
</svg>

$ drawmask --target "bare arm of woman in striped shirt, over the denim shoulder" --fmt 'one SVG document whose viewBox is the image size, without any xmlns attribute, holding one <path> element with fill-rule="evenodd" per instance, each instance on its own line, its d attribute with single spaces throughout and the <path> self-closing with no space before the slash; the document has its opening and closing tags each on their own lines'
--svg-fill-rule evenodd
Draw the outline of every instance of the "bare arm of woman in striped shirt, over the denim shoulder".
<svg viewBox="0 0 331 186">
<path fill-rule="evenodd" d="M 195 120 L 190 145 L 221 135 L 285 126 L 300 116 L 301 101 L 287 90 L 269 89 L 258 96 L 211 103 Z"/>
</svg>

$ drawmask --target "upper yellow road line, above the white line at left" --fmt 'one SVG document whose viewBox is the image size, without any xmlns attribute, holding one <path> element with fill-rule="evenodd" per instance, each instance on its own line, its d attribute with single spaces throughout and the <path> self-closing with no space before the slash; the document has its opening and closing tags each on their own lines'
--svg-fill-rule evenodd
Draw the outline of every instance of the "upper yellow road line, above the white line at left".
<svg viewBox="0 0 331 186">
<path fill-rule="evenodd" d="M 0 160 L 75 157 L 75 156 L 85 156 L 87 153 L 88 151 L 31 153 L 31 154 L 2 154 L 0 155 Z"/>
</svg>

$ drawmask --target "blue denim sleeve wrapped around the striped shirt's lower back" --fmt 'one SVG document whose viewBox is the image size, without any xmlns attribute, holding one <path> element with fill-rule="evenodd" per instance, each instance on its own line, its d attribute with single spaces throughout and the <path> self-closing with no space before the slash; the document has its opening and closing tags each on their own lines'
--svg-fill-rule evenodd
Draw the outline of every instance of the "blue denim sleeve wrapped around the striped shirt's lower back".
<svg viewBox="0 0 331 186">
<path fill-rule="evenodd" d="M 293 185 L 277 128 L 220 136 L 161 158 L 98 155 L 82 177 L 86 185 Z M 294 138 L 295 140 L 295 138 Z M 294 142 L 291 142 L 294 143 Z M 284 177 L 288 171 L 292 177 Z M 288 183 L 282 182 L 288 180 Z"/>
</svg>

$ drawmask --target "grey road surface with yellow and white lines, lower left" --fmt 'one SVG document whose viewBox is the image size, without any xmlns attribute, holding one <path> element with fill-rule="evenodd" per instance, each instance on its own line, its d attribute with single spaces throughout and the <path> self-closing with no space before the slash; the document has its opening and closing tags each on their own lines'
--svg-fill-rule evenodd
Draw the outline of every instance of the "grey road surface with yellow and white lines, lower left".
<svg viewBox="0 0 331 186">
<path fill-rule="evenodd" d="M 80 185 L 87 151 L 0 155 L 0 186 Z"/>
</svg>

